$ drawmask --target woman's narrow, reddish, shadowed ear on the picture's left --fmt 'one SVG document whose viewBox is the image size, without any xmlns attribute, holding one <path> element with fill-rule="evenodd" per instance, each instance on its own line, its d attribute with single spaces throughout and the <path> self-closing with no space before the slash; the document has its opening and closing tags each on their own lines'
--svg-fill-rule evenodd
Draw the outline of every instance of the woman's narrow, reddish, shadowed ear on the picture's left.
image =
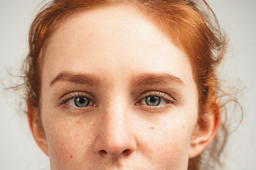
<svg viewBox="0 0 256 170">
<path fill-rule="evenodd" d="M 49 156 L 48 154 L 48 145 L 47 140 L 44 134 L 43 127 L 41 123 L 38 121 L 38 109 L 35 108 L 32 104 L 28 104 L 28 120 L 31 132 L 33 137 L 38 144 L 38 146 L 43 150 L 43 152 Z"/>
</svg>

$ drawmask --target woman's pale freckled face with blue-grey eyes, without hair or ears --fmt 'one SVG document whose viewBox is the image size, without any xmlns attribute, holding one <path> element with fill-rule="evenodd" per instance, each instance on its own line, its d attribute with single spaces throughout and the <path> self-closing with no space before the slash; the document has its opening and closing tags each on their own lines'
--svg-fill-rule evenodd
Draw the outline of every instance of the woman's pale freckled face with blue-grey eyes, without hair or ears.
<svg viewBox="0 0 256 170">
<path fill-rule="evenodd" d="M 187 169 L 198 94 L 188 57 L 139 11 L 63 22 L 43 51 L 52 169 Z"/>
</svg>

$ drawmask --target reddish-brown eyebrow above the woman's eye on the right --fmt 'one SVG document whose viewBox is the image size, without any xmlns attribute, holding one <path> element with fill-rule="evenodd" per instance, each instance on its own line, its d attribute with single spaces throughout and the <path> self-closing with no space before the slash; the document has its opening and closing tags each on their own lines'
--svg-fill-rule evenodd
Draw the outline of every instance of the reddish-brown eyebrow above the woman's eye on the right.
<svg viewBox="0 0 256 170">
<path fill-rule="evenodd" d="M 156 83 L 169 83 L 170 81 L 177 82 L 185 86 L 182 79 L 172 74 L 166 74 L 166 73 L 140 73 L 136 76 L 134 75 L 132 78 L 132 85 L 145 86 L 145 85 L 151 85 Z"/>
</svg>

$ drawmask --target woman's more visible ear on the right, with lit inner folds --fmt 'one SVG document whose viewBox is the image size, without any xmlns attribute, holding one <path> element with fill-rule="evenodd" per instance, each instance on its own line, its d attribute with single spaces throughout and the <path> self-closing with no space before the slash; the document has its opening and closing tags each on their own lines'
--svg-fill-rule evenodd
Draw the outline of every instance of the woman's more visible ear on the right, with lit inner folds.
<svg viewBox="0 0 256 170">
<path fill-rule="evenodd" d="M 200 118 L 190 142 L 189 158 L 198 156 L 212 141 L 220 123 L 220 107 L 214 104 L 212 113 Z"/>
</svg>

